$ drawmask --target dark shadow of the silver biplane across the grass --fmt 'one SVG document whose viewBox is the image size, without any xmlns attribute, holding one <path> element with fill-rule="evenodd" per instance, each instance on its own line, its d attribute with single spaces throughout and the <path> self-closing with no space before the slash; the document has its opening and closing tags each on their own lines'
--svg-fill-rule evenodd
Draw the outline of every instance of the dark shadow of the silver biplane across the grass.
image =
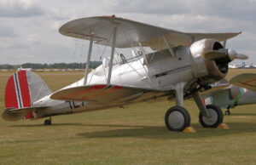
<svg viewBox="0 0 256 165">
<path fill-rule="evenodd" d="M 255 133 L 256 123 L 252 122 L 230 122 L 230 129 L 201 128 L 199 123 L 192 124 L 197 130 L 195 134 L 173 133 L 166 128 L 158 126 L 130 126 L 130 125 L 110 125 L 110 124 L 94 124 L 87 125 L 93 127 L 113 127 L 107 131 L 89 132 L 77 134 L 84 138 L 142 138 L 142 139 L 191 139 L 206 138 L 212 136 L 222 136 L 228 134 Z"/>
</svg>

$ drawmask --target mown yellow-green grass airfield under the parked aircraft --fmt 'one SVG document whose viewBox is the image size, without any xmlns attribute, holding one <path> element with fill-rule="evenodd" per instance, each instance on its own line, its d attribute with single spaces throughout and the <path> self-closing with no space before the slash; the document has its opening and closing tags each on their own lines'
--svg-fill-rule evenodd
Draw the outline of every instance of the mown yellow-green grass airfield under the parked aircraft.
<svg viewBox="0 0 256 165">
<path fill-rule="evenodd" d="M 228 79 L 242 72 L 230 70 Z M 83 72 L 38 73 L 52 90 L 79 80 Z M 0 109 L 9 73 L 0 73 Z M 194 134 L 166 130 L 173 103 L 7 122 L 0 118 L 0 164 L 255 164 L 256 105 L 238 106 L 224 117 L 230 129 L 201 128 L 198 109 L 185 101 Z"/>
</svg>

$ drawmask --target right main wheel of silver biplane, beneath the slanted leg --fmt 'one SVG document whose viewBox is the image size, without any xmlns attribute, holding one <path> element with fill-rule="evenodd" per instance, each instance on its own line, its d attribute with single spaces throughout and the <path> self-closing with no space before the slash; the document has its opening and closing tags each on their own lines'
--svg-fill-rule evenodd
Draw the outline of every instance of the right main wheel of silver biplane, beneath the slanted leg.
<svg viewBox="0 0 256 165">
<path fill-rule="evenodd" d="M 210 117 L 203 117 L 199 114 L 199 121 L 204 128 L 217 128 L 223 122 L 223 112 L 216 105 L 207 105 Z"/>
</svg>

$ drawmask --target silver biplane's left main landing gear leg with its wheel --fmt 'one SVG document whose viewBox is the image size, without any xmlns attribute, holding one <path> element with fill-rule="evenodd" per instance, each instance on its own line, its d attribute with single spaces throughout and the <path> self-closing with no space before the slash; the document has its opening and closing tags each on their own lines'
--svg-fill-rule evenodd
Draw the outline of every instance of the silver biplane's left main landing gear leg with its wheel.
<svg viewBox="0 0 256 165">
<path fill-rule="evenodd" d="M 176 85 L 176 106 L 166 111 L 166 128 L 171 131 L 183 131 L 190 125 L 189 112 L 183 108 L 183 87 L 185 83 Z"/>
</svg>

